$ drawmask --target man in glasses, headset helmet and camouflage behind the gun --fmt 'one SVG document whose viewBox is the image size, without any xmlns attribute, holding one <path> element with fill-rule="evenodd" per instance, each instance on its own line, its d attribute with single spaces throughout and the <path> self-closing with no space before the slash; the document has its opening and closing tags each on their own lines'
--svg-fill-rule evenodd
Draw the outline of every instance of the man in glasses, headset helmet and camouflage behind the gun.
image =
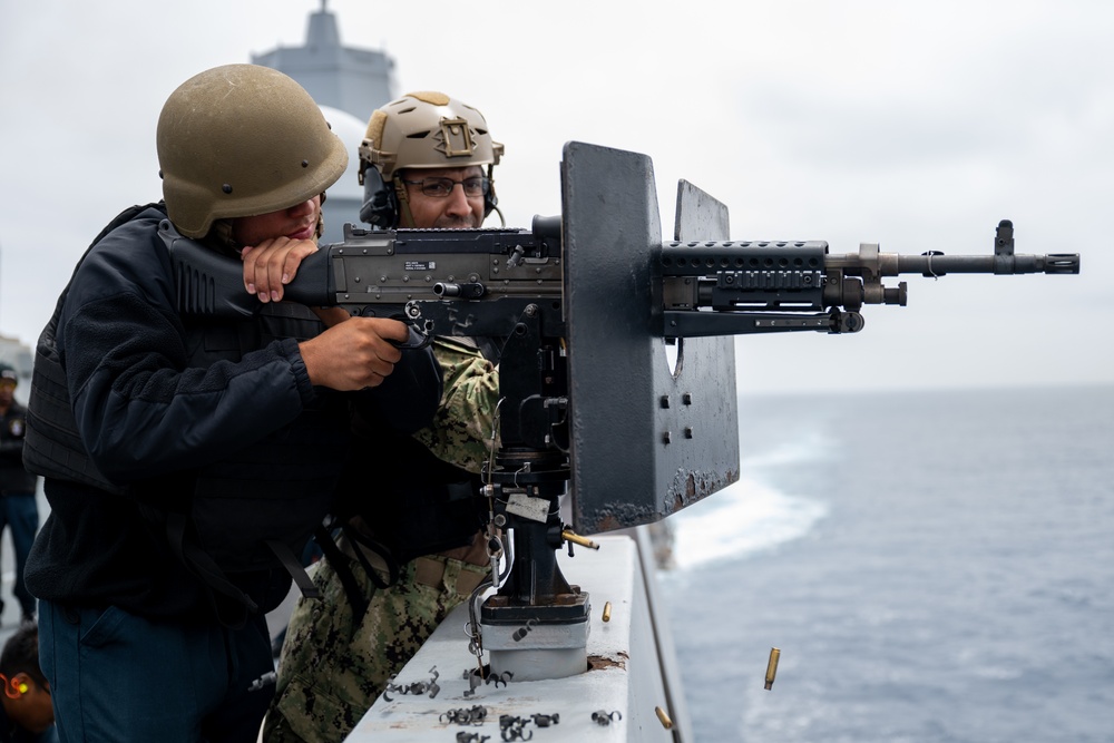
<svg viewBox="0 0 1114 743">
<path fill-rule="evenodd" d="M 377 110 L 360 147 L 361 218 L 382 229 L 475 228 L 496 211 L 502 156 L 476 108 L 413 92 Z M 438 338 L 444 397 L 414 437 L 364 431 L 393 467 L 342 486 L 336 545 L 300 599 L 278 663 L 267 743 L 342 741 L 448 613 L 487 580 L 478 473 L 498 403 L 499 339 Z M 479 349 L 483 349 L 481 353 Z"/>
</svg>

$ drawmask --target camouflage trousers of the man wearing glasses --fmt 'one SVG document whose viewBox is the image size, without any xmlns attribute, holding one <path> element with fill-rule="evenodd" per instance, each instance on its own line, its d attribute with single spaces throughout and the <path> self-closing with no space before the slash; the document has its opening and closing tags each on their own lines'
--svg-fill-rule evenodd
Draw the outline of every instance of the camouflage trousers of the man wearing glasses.
<svg viewBox="0 0 1114 743">
<path fill-rule="evenodd" d="M 342 741 L 388 678 L 488 575 L 487 566 L 420 557 L 402 566 L 397 584 L 381 589 L 348 559 L 369 598 L 368 612 L 353 616 L 336 570 L 322 560 L 313 571 L 322 597 L 300 598 L 291 616 L 275 697 L 263 725 L 265 743 Z M 380 578 L 385 580 L 387 574 Z"/>
</svg>

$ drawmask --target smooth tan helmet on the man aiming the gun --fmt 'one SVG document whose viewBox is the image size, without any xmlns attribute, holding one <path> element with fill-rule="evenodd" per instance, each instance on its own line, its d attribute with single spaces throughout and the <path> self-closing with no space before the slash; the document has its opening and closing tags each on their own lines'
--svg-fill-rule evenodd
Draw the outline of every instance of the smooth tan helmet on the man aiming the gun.
<svg viewBox="0 0 1114 743">
<path fill-rule="evenodd" d="M 333 185 L 348 151 L 302 86 L 257 65 L 215 67 L 183 82 L 158 117 L 170 222 L 204 237 L 215 219 L 277 212 Z"/>
</svg>

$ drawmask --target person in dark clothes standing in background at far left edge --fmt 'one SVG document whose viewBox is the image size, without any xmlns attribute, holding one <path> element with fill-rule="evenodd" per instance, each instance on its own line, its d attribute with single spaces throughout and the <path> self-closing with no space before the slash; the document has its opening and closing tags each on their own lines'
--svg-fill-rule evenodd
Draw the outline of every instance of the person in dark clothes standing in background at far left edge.
<svg viewBox="0 0 1114 743">
<path fill-rule="evenodd" d="M 35 596 L 23 585 L 27 554 L 39 528 L 39 507 L 35 502 L 38 478 L 23 467 L 23 434 L 27 411 L 16 400 L 19 377 L 8 364 L 0 364 L 0 534 L 11 530 L 16 578 L 11 593 L 19 602 L 23 622 L 35 619 Z M 0 599 L 0 613 L 3 600 Z"/>
</svg>

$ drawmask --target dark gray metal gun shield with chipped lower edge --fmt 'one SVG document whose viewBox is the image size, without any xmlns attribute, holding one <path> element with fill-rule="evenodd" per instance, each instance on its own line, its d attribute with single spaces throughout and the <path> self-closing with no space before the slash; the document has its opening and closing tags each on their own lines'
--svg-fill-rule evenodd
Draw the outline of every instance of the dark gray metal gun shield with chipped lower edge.
<svg viewBox="0 0 1114 743">
<path fill-rule="evenodd" d="M 734 340 L 662 332 L 653 163 L 565 145 L 561 163 L 573 527 L 651 524 L 739 479 Z M 727 209 L 681 182 L 678 239 L 729 238 Z"/>
</svg>

